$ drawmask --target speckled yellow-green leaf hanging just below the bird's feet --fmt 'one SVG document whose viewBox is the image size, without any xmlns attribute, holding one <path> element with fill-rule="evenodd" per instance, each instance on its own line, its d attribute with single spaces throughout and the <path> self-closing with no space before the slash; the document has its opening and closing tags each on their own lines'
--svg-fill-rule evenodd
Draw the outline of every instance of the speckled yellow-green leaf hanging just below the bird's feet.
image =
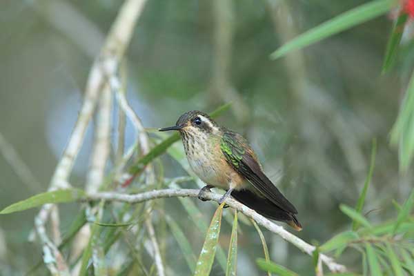
<svg viewBox="0 0 414 276">
<path fill-rule="evenodd" d="M 210 227 L 208 227 L 206 239 L 204 240 L 203 248 L 195 267 L 195 276 L 210 275 L 211 268 L 214 262 L 215 251 L 217 243 L 219 242 L 221 215 L 223 214 L 223 204 L 215 211 L 213 219 L 211 219 Z"/>
</svg>

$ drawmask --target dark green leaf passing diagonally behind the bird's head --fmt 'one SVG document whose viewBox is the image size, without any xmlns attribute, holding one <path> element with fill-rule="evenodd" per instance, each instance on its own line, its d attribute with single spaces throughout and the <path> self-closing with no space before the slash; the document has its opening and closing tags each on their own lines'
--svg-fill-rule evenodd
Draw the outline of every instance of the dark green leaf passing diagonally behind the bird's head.
<svg viewBox="0 0 414 276">
<path fill-rule="evenodd" d="M 231 105 L 231 103 L 226 103 L 226 104 L 220 106 L 219 108 L 217 108 L 216 110 L 211 112 L 210 116 L 212 118 L 215 118 L 215 117 L 221 115 L 222 112 L 224 112 L 224 111 L 228 110 L 228 108 L 230 108 L 230 105 Z M 133 164 L 128 169 L 128 172 L 131 175 L 137 174 L 139 171 L 142 170 L 142 168 L 144 168 L 144 166 L 146 166 L 148 163 L 150 163 L 150 161 L 152 161 L 153 159 L 159 157 L 159 155 L 163 154 L 167 150 L 167 148 L 169 148 L 172 144 L 174 144 L 178 140 L 179 140 L 179 134 L 177 132 L 177 133 L 174 133 L 173 135 L 171 135 L 170 137 L 168 137 L 167 139 L 165 139 L 164 141 L 161 141 L 161 143 L 159 143 L 157 146 L 152 148 L 150 150 L 150 152 L 148 152 L 146 155 L 144 155 L 143 157 L 141 157 L 137 161 L 135 161 L 135 164 Z"/>
</svg>

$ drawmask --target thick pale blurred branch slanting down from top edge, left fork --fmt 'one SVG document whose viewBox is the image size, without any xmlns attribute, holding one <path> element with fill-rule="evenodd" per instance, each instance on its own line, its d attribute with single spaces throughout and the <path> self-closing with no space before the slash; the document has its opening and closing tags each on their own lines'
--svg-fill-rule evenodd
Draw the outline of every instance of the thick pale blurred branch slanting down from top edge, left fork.
<svg viewBox="0 0 414 276">
<path fill-rule="evenodd" d="M 124 53 L 132 37 L 132 30 L 135 28 L 135 23 L 144 8 L 145 2 L 146 0 L 127 0 L 121 6 L 121 10 L 115 19 L 115 22 L 112 24 L 105 44 L 90 70 L 90 75 L 86 84 L 85 97 L 75 128 L 72 130 L 72 135 L 70 136 L 68 145 L 63 151 L 63 156 L 57 164 L 55 173 L 50 181 L 49 190 L 67 188 L 70 186 L 68 184 L 68 178 L 83 144 L 86 128 L 95 111 L 99 94 L 107 81 L 106 76 L 116 74 L 118 63 L 121 58 L 124 57 Z M 59 253 L 56 246 L 48 239 L 45 228 L 51 207 L 52 205 L 46 204 L 41 208 L 39 215 L 35 218 L 35 226 L 39 237 L 41 237 L 43 248 L 48 248 L 48 252 L 55 254 L 54 257 L 57 259 L 61 256 L 61 253 Z M 46 257 L 43 257 L 43 259 L 48 265 L 48 259 L 46 259 Z M 61 259 L 63 260 L 63 258 Z M 49 265 L 48 268 L 53 274 L 55 268 L 49 267 Z M 68 274 L 66 273 L 66 270 L 64 272 L 65 274 Z M 59 270 L 57 272 L 59 273 Z"/>
</svg>

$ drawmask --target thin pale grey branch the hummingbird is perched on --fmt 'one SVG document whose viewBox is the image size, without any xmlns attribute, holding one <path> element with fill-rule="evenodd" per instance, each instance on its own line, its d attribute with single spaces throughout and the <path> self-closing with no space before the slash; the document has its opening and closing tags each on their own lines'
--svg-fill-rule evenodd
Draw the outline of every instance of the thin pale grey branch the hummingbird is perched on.
<svg viewBox="0 0 414 276">
<path fill-rule="evenodd" d="M 159 198 L 167 198 L 167 197 L 198 197 L 199 190 L 193 190 L 193 189 L 165 189 L 165 190 L 152 190 L 150 192 L 146 193 L 139 193 L 135 195 L 128 195 L 128 194 L 119 194 L 119 193 L 96 193 L 96 194 L 90 194 L 86 197 L 86 200 L 101 200 L 105 199 L 106 201 L 123 201 L 128 202 L 130 204 L 137 204 L 140 202 L 148 201 L 151 199 L 159 199 Z M 221 195 L 206 192 L 204 193 L 205 199 L 210 199 L 213 201 L 219 201 L 221 198 Z M 231 208 L 235 208 L 236 210 L 239 210 L 240 212 L 244 213 L 244 215 L 251 217 L 254 219 L 258 224 L 261 226 L 264 226 L 264 228 L 270 230 L 270 232 L 273 232 L 283 239 L 286 240 L 286 242 L 289 242 L 290 244 L 293 244 L 299 250 L 302 250 L 302 252 L 311 255 L 313 251 L 315 250 L 315 246 L 312 246 L 311 244 L 308 244 L 307 242 L 304 242 L 303 239 L 300 239 L 299 237 L 296 237 L 292 233 L 289 233 L 286 231 L 282 226 L 279 226 L 275 224 L 274 222 L 266 219 L 266 217 L 263 217 L 262 215 L 259 215 L 255 212 L 255 210 L 248 208 L 247 206 L 239 203 L 239 201 L 236 201 L 235 199 L 226 199 L 226 204 L 230 206 Z M 337 264 L 334 259 L 331 257 L 328 257 L 324 254 L 319 254 L 319 258 L 321 259 L 321 262 L 326 264 L 329 270 L 332 272 L 345 272 L 346 267 L 342 264 Z"/>
</svg>

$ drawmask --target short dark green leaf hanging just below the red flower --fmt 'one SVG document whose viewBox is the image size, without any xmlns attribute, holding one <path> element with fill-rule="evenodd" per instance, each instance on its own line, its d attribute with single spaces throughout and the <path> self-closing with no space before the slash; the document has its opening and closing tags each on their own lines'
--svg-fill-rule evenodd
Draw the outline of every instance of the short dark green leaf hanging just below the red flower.
<svg viewBox="0 0 414 276">
<path fill-rule="evenodd" d="M 382 64 L 383 74 L 391 68 L 393 62 L 395 61 L 395 57 L 397 57 L 398 46 L 400 46 L 402 33 L 404 32 L 404 26 L 407 19 L 408 15 L 405 12 L 401 12 L 397 21 L 395 21 L 390 39 L 388 39 L 388 44 L 386 46 L 384 64 Z"/>
</svg>

